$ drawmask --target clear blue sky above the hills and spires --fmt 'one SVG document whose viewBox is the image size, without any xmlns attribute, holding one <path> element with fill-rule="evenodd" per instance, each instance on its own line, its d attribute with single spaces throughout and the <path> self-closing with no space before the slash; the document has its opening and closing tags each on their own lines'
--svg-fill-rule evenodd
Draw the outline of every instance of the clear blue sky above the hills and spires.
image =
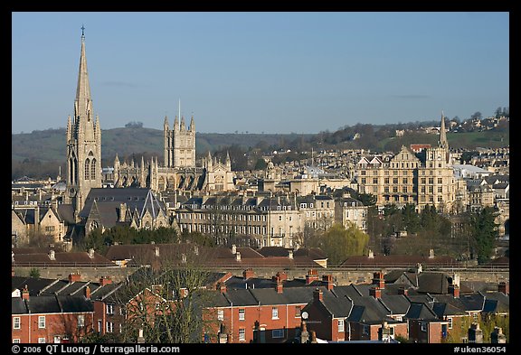
<svg viewBox="0 0 521 355">
<path fill-rule="evenodd" d="M 201 133 L 302 134 L 509 107 L 507 12 L 13 12 L 12 133 L 66 126 L 82 25 L 102 129 L 179 109 Z"/>
</svg>

